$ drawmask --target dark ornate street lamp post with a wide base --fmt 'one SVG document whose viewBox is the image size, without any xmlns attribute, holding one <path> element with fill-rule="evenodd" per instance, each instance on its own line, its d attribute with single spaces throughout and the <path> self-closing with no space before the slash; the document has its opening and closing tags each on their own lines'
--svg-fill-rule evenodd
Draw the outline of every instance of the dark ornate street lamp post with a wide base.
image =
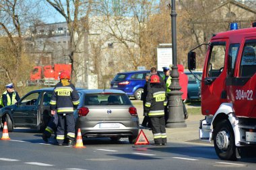
<svg viewBox="0 0 256 170">
<path fill-rule="evenodd" d="M 176 33 L 176 16 L 175 11 L 175 0 L 172 0 L 172 5 L 168 4 L 171 10 L 170 16 L 172 19 L 172 71 L 170 76 L 172 82 L 170 84 L 170 92 L 168 93 L 168 120 L 166 128 L 184 128 L 187 127 L 185 124 L 184 113 L 183 113 L 183 101 L 181 95 L 183 92 L 180 91 L 181 86 L 179 85 L 179 72 L 177 67 L 177 33 Z"/>
</svg>

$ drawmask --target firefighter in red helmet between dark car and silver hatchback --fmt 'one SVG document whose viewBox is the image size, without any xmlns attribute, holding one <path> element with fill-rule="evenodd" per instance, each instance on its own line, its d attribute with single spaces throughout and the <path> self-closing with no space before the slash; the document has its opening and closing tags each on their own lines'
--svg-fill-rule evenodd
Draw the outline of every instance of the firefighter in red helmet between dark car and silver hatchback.
<svg viewBox="0 0 256 170">
<path fill-rule="evenodd" d="M 58 115 L 57 142 L 59 146 L 65 140 L 65 130 L 69 139 L 69 146 L 75 144 L 75 119 L 74 108 L 79 104 L 79 95 L 70 83 L 69 73 L 63 71 L 59 76 L 60 82 L 55 85 L 50 102 L 51 114 Z"/>
</svg>

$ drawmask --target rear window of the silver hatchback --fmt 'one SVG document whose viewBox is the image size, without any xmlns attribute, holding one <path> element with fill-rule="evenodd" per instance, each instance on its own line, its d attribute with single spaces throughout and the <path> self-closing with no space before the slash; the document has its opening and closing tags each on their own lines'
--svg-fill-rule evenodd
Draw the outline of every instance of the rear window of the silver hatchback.
<svg viewBox="0 0 256 170">
<path fill-rule="evenodd" d="M 131 105 L 131 101 L 122 93 L 93 93 L 85 96 L 85 105 Z"/>
</svg>

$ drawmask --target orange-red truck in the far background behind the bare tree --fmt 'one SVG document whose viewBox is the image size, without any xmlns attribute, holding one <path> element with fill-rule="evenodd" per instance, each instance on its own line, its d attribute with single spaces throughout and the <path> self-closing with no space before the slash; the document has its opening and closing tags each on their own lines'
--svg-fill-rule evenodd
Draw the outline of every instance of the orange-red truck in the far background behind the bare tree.
<svg viewBox="0 0 256 170">
<path fill-rule="evenodd" d="M 54 86 L 59 82 L 59 73 L 68 71 L 71 74 L 71 65 L 55 64 L 54 66 L 35 66 L 30 73 L 28 85 Z"/>
</svg>

